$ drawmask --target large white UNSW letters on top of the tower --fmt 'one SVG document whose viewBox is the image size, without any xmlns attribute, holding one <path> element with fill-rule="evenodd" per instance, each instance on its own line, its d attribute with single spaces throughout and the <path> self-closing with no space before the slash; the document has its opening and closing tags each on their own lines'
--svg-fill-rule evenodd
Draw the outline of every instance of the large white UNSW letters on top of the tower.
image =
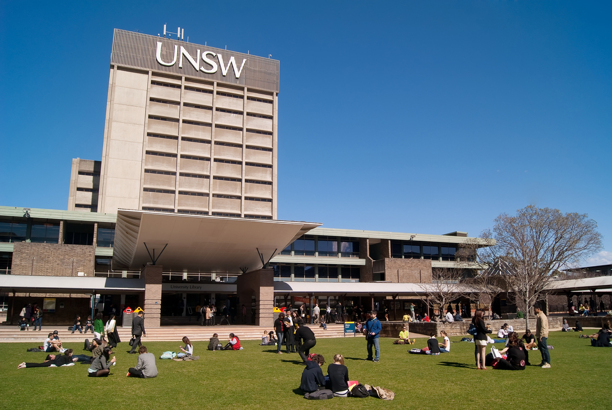
<svg viewBox="0 0 612 410">
<path fill-rule="evenodd" d="M 176 60 L 179 61 L 179 68 L 183 67 L 183 57 L 187 60 L 187 63 L 191 64 L 196 71 L 205 72 L 207 74 L 214 74 L 221 68 L 221 74 L 223 77 L 228 75 L 230 72 L 230 67 L 233 69 L 234 75 L 236 78 L 240 78 L 242 74 L 242 69 L 244 68 L 244 63 L 247 62 L 247 59 L 242 59 L 242 63 L 240 64 L 240 68 L 236 64 L 236 59 L 234 56 L 230 57 L 230 60 L 225 64 L 223 61 L 223 56 L 218 53 L 213 53 L 212 51 L 204 51 L 203 53 L 198 49 L 196 51 L 196 56 L 193 58 L 192 55 L 189 54 L 187 50 L 181 45 L 174 45 L 174 54 L 172 61 L 163 61 L 162 59 L 162 42 L 157 42 L 157 47 L 155 49 L 155 59 L 157 59 L 157 63 L 161 64 L 165 67 L 172 67 L 176 64 Z M 179 47 L 181 50 L 179 51 Z M 216 60 L 218 61 L 215 61 Z M 204 62 L 203 66 L 200 66 L 200 59 Z"/>
</svg>

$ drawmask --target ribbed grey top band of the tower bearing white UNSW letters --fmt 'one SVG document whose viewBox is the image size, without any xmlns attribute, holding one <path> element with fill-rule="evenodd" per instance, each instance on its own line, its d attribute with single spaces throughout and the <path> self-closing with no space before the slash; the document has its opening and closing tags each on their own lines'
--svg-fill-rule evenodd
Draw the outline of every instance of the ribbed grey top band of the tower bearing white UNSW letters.
<svg viewBox="0 0 612 410">
<path fill-rule="evenodd" d="M 114 30 L 111 64 L 278 93 L 278 60 L 138 32 Z"/>
</svg>

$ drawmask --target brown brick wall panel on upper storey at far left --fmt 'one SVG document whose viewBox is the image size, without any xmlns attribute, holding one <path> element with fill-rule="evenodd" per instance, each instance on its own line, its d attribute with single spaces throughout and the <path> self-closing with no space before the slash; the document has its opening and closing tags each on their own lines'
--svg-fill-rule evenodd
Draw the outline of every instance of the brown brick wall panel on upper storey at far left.
<svg viewBox="0 0 612 410">
<path fill-rule="evenodd" d="M 95 247 L 59 243 L 15 242 L 13 275 L 94 276 Z"/>
</svg>

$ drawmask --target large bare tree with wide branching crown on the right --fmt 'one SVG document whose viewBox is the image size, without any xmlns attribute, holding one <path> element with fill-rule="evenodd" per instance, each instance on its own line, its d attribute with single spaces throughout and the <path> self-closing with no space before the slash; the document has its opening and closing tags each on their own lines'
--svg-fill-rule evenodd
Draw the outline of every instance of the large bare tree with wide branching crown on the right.
<svg viewBox="0 0 612 410">
<path fill-rule="evenodd" d="M 529 328 L 529 312 L 542 299 L 551 273 L 599 251 L 602 235 L 586 214 L 533 205 L 514 216 L 502 213 L 494 222 L 493 230 L 481 235 L 494 245 L 477 249 L 477 256 L 488 266 L 502 260 L 512 268 L 503 275 L 504 283 L 527 307 Z"/>
</svg>

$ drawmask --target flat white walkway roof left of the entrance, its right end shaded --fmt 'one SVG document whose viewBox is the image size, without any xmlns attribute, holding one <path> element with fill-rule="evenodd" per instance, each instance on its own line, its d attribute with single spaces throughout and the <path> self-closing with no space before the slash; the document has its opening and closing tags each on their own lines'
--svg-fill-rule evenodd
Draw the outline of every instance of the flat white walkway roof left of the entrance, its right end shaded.
<svg viewBox="0 0 612 410">
<path fill-rule="evenodd" d="M 125 294 L 144 292 L 144 279 L 0 275 L 1 292 Z"/>
</svg>

